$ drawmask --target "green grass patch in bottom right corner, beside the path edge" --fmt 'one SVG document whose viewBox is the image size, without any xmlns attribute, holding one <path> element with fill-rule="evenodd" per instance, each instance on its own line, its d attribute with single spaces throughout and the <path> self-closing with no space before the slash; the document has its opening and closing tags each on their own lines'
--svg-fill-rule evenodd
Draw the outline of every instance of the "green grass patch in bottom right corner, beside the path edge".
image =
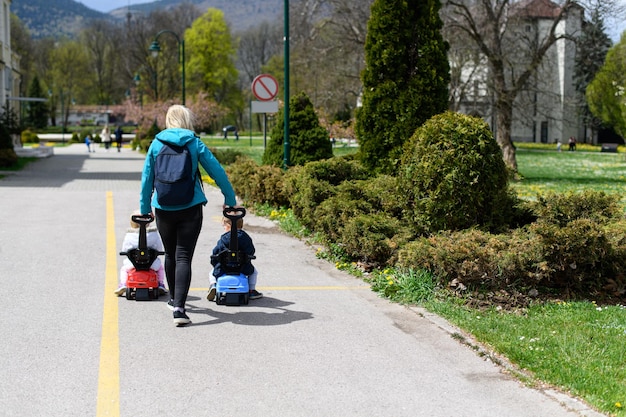
<svg viewBox="0 0 626 417">
<path fill-rule="evenodd" d="M 626 307 L 551 302 L 511 313 L 477 311 L 452 300 L 425 306 L 530 371 L 530 381 L 626 415 Z"/>
</svg>

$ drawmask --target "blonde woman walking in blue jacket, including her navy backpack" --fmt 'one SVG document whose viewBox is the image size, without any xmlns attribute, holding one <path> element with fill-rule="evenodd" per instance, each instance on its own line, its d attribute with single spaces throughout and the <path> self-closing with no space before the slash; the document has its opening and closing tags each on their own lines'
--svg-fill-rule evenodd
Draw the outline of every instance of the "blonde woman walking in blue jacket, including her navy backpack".
<svg viewBox="0 0 626 417">
<path fill-rule="evenodd" d="M 148 148 L 139 201 L 142 215 L 151 215 L 154 207 L 157 230 L 165 248 L 165 278 L 171 296 L 168 307 L 176 326 L 191 323 L 185 303 L 191 284 L 191 261 L 202 229 L 202 206 L 207 203 L 198 164 L 222 191 L 224 207 L 236 204 L 226 172 L 193 131 L 193 118 L 184 106 L 168 109 L 166 129 L 156 135 Z M 189 192 L 185 191 L 187 187 Z"/>
</svg>

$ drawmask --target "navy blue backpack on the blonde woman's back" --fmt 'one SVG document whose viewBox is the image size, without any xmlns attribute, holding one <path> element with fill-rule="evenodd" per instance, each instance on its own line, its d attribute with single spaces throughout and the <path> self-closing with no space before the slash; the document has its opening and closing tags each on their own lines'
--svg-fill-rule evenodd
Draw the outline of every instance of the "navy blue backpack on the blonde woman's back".
<svg viewBox="0 0 626 417">
<path fill-rule="evenodd" d="M 181 206 L 193 200 L 197 175 L 192 170 L 187 146 L 160 141 L 163 146 L 154 160 L 154 189 L 163 206 Z"/>
</svg>

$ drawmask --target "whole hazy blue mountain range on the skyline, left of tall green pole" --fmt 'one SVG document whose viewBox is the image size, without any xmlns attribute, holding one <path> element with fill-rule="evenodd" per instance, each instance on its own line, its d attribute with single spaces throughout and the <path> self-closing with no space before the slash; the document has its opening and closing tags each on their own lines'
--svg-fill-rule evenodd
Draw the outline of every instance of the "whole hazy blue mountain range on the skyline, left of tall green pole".
<svg viewBox="0 0 626 417">
<path fill-rule="evenodd" d="M 222 10 L 234 32 L 264 20 L 282 24 L 283 3 L 278 0 L 159 0 L 132 5 L 130 12 L 148 15 L 155 10 L 171 9 L 183 2 L 191 3 L 203 12 L 209 8 Z M 74 0 L 13 0 L 11 12 L 19 17 L 34 38 L 58 38 L 74 36 L 92 19 L 126 19 L 129 7 L 120 7 L 106 14 Z"/>
</svg>

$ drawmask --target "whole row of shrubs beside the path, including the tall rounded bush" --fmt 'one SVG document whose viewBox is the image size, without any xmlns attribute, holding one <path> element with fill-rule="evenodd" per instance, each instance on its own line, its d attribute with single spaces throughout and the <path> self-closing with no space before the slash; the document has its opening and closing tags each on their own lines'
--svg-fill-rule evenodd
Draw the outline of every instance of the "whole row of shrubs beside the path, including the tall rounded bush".
<svg viewBox="0 0 626 417">
<path fill-rule="evenodd" d="M 618 196 L 588 191 L 520 201 L 495 159 L 474 155 L 498 152 L 484 126 L 472 131 L 480 122 L 438 123 L 444 134 L 429 145 L 435 150 L 420 142 L 430 136 L 418 129 L 409 146 L 419 150 L 397 176 L 372 176 L 350 157 L 286 172 L 239 158 L 227 171 L 246 204 L 289 207 L 329 247 L 373 267 L 426 269 L 438 285 L 457 288 L 625 296 L 626 220 Z M 470 128 L 475 146 L 459 128 Z M 461 172 L 458 158 L 473 168 Z M 481 172 L 481 161 L 493 167 Z"/>
</svg>

